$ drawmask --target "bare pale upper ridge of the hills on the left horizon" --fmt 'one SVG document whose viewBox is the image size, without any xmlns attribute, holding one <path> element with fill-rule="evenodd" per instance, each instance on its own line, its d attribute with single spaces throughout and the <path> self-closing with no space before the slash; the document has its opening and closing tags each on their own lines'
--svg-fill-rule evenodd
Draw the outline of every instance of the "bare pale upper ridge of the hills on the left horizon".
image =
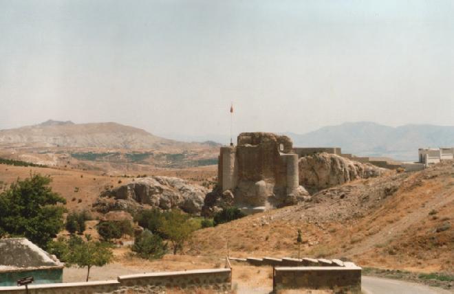
<svg viewBox="0 0 454 294">
<path fill-rule="evenodd" d="M 186 143 L 158 137 L 132 126 L 114 122 L 74 124 L 48 120 L 34 126 L 0 131 L 0 146 L 17 147 L 80 147 L 125 149 L 185 149 L 216 144 Z"/>
</svg>

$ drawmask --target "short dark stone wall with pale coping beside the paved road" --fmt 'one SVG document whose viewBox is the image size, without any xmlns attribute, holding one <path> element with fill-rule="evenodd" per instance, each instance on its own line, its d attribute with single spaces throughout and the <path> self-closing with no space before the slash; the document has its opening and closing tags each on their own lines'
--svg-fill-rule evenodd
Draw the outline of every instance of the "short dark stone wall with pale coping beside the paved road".
<svg viewBox="0 0 454 294">
<path fill-rule="evenodd" d="M 361 293 L 361 268 L 349 267 L 276 267 L 273 290 L 325 289 L 334 293 Z"/>
</svg>

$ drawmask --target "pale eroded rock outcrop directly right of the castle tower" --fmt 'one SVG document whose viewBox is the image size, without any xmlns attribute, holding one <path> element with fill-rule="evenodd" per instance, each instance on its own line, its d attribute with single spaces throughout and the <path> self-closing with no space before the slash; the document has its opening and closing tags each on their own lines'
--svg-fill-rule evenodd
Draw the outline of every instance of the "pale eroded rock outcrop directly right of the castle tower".
<svg viewBox="0 0 454 294">
<path fill-rule="evenodd" d="M 310 193 L 356 179 L 378 177 L 386 172 L 389 170 L 328 153 L 299 159 L 299 183 Z"/>
</svg>

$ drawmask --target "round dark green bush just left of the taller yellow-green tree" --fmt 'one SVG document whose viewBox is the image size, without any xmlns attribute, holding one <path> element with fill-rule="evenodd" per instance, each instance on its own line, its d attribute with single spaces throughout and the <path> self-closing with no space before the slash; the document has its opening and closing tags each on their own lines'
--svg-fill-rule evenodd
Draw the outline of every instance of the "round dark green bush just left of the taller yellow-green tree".
<svg viewBox="0 0 454 294">
<path fill-rule="evenodd" d="M 131 250 L 137 252 L 141 258 L 158 259 L 162 258 L 167 252 L 167 243 L 164 243 L 162 238 L 157 234 L 153 234 L 148 229 L 145 229 L 134 240 Z"/>
</svg>

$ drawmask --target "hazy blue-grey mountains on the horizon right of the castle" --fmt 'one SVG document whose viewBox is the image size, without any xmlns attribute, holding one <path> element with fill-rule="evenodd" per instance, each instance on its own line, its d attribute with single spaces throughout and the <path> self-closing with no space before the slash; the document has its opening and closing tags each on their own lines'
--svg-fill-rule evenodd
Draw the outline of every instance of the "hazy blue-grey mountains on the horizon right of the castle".
<svg viewBox="0 0 454 294">
<path fill-rule="evenodd" d="M 454 126 L 407 124 L 383 126 L 374 122 L 346 122 L 303 135 L 285 133 L 298 147 L 340 147 L 344 153 L 369 157 L 418 159 L 418 148 L 454 146 Z"/>
</svg>

